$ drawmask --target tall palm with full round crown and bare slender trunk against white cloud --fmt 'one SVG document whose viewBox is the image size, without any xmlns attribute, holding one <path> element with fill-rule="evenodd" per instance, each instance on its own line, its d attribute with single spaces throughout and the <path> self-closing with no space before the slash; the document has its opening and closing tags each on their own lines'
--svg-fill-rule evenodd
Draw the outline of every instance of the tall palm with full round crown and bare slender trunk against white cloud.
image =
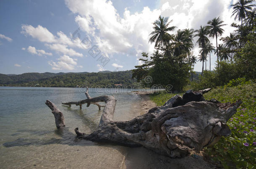
<svg viewBox="0 0 256 169">
<path fill-rule="evenodd" d="M 216 38 L 216 50 L 217 50 L 217 60 L 219 61 L 219 54 L 218 54 L 218 42 L 217 38 L 218 35 L 222 35 L 222 33 L 225 31 L 224 29 L 220 28 L 226 24 L 222 24 L 224 21 L 220 20 L 220 18 L 213 18 L 212 20 L 208 21 L 208 28 L 209 28 L 209 37 Z"/>
</svg>

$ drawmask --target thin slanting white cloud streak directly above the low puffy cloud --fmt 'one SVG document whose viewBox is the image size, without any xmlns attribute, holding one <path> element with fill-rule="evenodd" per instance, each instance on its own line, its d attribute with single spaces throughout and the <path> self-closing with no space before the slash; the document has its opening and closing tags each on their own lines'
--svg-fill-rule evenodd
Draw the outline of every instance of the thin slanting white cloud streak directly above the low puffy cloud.
<svg viewBox="0 0 256 169">
<path fill-rule="evenodd" d="M 65 55 L 83 57 L 82 53 L 78 53 L 72 48 L 68 48 L 68 45 L 54 43 L 54 44 L 46 44 L 46 46 L 48 46 L 52 50 L 55 50 L 56 52 L 63 53 Z"/>
</svg>

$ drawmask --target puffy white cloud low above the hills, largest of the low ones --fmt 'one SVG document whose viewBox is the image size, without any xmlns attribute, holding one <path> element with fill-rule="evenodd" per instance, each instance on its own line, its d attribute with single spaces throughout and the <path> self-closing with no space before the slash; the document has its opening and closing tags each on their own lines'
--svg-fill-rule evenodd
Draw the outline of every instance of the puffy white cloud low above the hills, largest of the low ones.
<svg viewBox="0 0 256 169">
<path fill-rule="evenodd" d="M 68 55 L 63 55 L 58 58 L 59 61 L 49 61 L 48 64 L 52 66 L 52 70 L 74 70 L 77 59 L 70 58 Z"/>
</svg>

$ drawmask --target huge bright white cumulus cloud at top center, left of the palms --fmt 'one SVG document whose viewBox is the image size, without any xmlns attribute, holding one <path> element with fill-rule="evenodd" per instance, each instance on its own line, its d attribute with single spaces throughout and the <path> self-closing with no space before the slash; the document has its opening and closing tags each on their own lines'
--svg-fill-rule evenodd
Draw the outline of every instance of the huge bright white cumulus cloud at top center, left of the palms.
<svg viewBox="0 0 256 169">
<path fill-rule="evenodd" d="M 141 13 L 131 15 L 126 8 L 121 18 L 111 1 L 65 2 L 73 13 L 78 13 L 76 22 L 82 30 L 93 36 L 103 53 L 136 55 L 154 49 L 154 44 L 148 44 L 148 35 L 152 31 L 152 22 L 161 14 L 161 10 L 144 7 Z"/>
</svg>

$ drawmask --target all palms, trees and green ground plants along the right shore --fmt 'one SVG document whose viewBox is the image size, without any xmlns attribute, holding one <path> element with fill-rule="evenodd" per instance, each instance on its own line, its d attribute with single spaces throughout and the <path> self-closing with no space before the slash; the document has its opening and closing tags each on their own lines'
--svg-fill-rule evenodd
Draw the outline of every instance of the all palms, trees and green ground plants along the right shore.
<svg viewBox="0 0 256 169">
<path fill-rule="evenodd" d="M 151 33 L 153 36 L 149 39 L 149 42 L 155 42 L 156 50 L 151 59 L 148 59 L 148 53 L 143 53 L 146 59 L 141 61 L 144 64 L 136 66 L 137 69 L 133 70 L 133 77 L 142 83 L 146 76 L 152 76 L 153 82 L 154 78 L 157 81 L 164 78 L 165 83 L 162 85 L 173 85 L 169 93 L 150 95 L 157 106 L 162 106 L 176 93 L 182 96 L 188 89 L 199 91 L 204 88 L 212 88 L 210 92 L 204 94 L 206 100 L 215 98 L 220 102 L 235 102 L 239 99 L 243 101 L 237 113 L 227 122 L 232 134 L 222 137 L 214 146 L 204 148 L 204 152 L 209 154 L 212 160 L 219 161 L 225 169 L 256 167 L 256 9 L 253 2 L 254 0 L 239 0 L 231 5 L 232 15 L 235 16 L 235 20 L 241 21 L 241 24 L 232 23 L 230 26 L 236 30 L 222 38 L 219 36 L 225 31 L 223 29 L 225 23 L 220 17 L 209 20 L 208 25 L 201 25 L 198 30 L 178 30 L 176 34 L 170 35 L 165 32 L 170 22 L 165 22 L 167 19 L 159 16 L 159 20 L 153 23 L 154 31 Z M 172 26 L 170 30 L 174 28 Z M 187 34 L 188 32 L 190 34 Z M 202 72 L 198 80 L 186 81 L 184 79 L 189 73 L 193 74 L 192 58 L 196 58 L 191 52 L 193 48 L 191 42 L 194 37 L 197 37 L 196 43 L 201 48 L 197 59 L 202 62 Z M 210 43 L 209 38 L 215 38 L 215 47 Z M 221 44 L 218 44 L 218 38 L 222 41 Z M 210 68 L 206 69 L 208 55 L 210 59 L 212 52 L 217 55 L 216 67 L 213 71 Z M 167 75 L 167 72 L 172 72 L 174 69 L 179 69 L 175 74 L 178 81 L 173 80 L 175 79 L 172 77 L 173 74 Z M 154 73 L 156 71 L 157 77 Z"/>
</svg>

